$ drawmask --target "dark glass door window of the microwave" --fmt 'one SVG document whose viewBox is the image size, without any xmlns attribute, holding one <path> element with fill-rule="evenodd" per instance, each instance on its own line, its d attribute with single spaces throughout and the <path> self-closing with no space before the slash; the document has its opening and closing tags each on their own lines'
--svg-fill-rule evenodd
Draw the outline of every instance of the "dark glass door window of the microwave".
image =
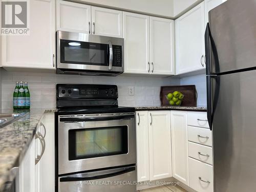
<svg viewBox="0 0 256 192">
<path fill-rule="evenodd" d="M 108 45 L 94 42 L 60 40 L 60 62 L 108 66 Z"/>
</svg>

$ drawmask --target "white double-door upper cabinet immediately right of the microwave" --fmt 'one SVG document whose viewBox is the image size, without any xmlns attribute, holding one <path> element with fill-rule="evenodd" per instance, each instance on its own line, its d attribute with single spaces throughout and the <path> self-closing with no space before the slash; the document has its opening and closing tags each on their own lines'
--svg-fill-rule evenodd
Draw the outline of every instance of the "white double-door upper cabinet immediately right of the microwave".
<svg viewBox="0 0 256 192">
<path fill-rule="evenodd" d="M 175 74 L 173 20 L 123 12 L 123 29 L 124 73 Z"/>
</svg>

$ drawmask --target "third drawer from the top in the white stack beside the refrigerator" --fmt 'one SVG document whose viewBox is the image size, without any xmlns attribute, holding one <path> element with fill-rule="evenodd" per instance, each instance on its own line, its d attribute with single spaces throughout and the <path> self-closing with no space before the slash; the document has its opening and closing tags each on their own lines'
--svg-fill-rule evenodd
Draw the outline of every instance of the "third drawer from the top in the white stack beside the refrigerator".
<svg viewBox="0 0 256 192">
<path fill-rule="evenodd" d="M 188 142 L 188 156 L 212 165 L 212 148 Z"/>
</svg>

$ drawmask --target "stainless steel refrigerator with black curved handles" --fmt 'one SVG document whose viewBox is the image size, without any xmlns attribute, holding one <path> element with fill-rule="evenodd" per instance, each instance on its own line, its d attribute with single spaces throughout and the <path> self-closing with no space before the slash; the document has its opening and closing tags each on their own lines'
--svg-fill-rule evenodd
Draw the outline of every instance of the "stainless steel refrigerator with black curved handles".
<svg viewBox="0 0 256 192">
<path fill-rule="evenodd" d="M 256 0 L 211 10 L 205 51 L 215 191 L 256 191 Z"/>
</svg>

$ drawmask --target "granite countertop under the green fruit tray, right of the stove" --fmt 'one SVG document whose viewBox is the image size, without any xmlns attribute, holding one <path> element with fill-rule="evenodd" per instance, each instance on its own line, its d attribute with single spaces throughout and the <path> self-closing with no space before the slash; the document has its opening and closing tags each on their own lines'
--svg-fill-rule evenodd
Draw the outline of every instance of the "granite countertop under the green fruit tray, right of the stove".
<svg viewBox="0 0 256 192">
<path fill-rule="evenodd" d="M 206 112 L 205 106 L 139 106 L 135 107 L 135 111 L 150 111 L 150 110 L 178 110 L 178 111 L 201 111 Z"/>
</svg>

